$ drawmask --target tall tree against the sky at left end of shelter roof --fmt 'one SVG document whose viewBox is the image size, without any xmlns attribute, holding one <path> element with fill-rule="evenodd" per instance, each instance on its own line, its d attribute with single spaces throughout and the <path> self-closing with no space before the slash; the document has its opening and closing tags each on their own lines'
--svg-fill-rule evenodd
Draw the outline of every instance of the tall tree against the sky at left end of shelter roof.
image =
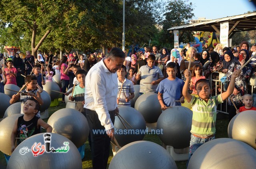
<svg viewBox="0 0 256 169">
<path fill-rule="evenodd" d="M 160 32 L 161 37 L 158 41 L 161 41 L 162 46 L 172 46 L 174 44 L 174 34 L 172 31 L 167 29 L 174 26 L 181 26 L 189 24 L 189 20 L 192 19 L 194 14 L 192 2 L 188 0 L 170 0 L 168 5 L 165 7 L 164 17 L 165 19 L 161 23 L 163 25 L 163 30 Z M 187 43 L 189 41 L 194 41 L 192 31 L 184 31 L 179 33 L 179 42 Z"/>
</svg>

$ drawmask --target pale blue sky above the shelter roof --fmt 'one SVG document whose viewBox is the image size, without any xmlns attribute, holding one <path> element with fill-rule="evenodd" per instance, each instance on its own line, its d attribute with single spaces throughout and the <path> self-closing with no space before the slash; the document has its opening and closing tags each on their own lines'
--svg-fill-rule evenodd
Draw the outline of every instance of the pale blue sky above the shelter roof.
<svg viewBox="0 0 256 169">
<path fill-rule="evenodd" d="M 189 0 L 194 5 L 194 18 L 218 19 L 256 10 L 249 0 Z M 256 4 L 256 3 L 255 3 Z"/>
</svg>

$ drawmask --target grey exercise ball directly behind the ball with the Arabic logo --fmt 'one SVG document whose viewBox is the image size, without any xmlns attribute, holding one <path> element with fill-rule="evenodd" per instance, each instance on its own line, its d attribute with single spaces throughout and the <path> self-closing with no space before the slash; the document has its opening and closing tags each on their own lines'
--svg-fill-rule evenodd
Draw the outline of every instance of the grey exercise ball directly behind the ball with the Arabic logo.
<svg viewBox="0 0 256 169">
<path fill-rule="evenodd" d="M 47 122 L 52 126 L 52 132 L 71 140 L 76 147 L 82 146 L 89 135 L 89 125 L 86 117 L 78 110 L 62 108 L 54 112 Z"/>
</svg>

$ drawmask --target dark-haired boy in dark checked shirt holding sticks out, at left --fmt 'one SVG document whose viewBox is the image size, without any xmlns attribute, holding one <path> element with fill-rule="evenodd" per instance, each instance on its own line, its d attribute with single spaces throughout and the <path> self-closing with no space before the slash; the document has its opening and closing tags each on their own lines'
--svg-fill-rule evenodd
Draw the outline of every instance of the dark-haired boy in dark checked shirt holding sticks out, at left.
<svg viewBox="0 0 256 169">
<path fill-rule="evenodd" d="M 26 89 L 21 90 L 22 93 L 12 95 L 12 98 L 10 99 L 10 104 L 15 103 L 17 100 L 20 100 L 20 107 L 23 107 L 24 103 L 29 98 L 34 98 L 39 102 L 40 105 L 42 105 L 44 102 L 41 98 L 40 92 L 38 92 L 38 90 L 36 89 L 36 77 L 34 75 L 27 75 L 25 78 L 25 83 L 27 83 Z M 20 113 L 24 114 L 22 108 L 20 110 Z M 36 116 L 40 118 L 40 113 L 36 114 Z"/>
</svg>

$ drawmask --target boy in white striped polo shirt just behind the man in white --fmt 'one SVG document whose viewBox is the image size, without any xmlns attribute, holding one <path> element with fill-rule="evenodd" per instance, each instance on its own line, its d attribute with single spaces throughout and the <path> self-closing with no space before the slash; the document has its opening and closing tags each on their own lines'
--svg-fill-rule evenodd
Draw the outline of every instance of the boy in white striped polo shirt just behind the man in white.
<svg viewBox="0 0 256 169">
<path fill-rule="evenodd" d="M 125 78 L 127 74 L 126 66 L 122 65 L 116 73 L 118 76 L 117 106 L 131 106 L 130 100 L 134 98 L 134 87 L 132 81 Z"/>
</svg>

